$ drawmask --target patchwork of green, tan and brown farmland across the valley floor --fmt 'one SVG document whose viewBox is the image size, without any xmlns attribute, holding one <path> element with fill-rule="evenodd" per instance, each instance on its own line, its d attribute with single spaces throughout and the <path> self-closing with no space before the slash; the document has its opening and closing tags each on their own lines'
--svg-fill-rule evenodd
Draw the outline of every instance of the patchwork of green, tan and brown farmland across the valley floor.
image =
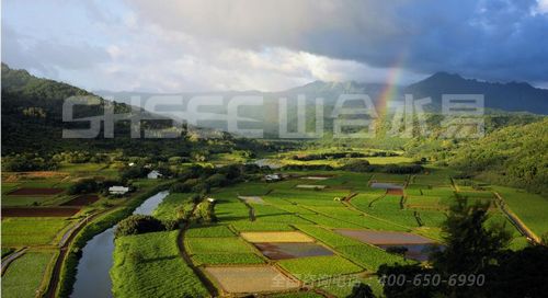
<svg viewBox="0 0 548 298">
<path fill-rule="evenodd" d="M 390 163 L 388 160 L 377 162 Z M 83 164 L 79 168 L 67 164 L 62 169 L 65 177 L 54 175 L 28 181 L 22 176 L 16 182 L 3 183 L 7 186 L 3 194 L 9 202 L 3 208 L 8 215 L 2 219 L 3 245 L 14 249 L 44 248 L 52 259 L 61 237 L 83 218 L 84 213 L 107 211 L 135 204 L 132 196 L 105 198 L 102 194 L 67 194 L 66 190 L 75 184 L 67 176 L 78 181 L 93 170 L 101 175 L 113 176 L 110 165 Z M 425 237 L 423 239 L 427 239 L 429 243 L 442 243 L 441 226 L 457 195 L 471 202 L 490 202 L 489 224 L 506 222 L 506 228 L 512 231 L 513 250 L 526 247 L 527 242 L 496 207 L 492 192 L 501 194 L 507 206 L 538 233 L 546 225 L 544 214 L 538 211 L 545 207 L 520 204 L 524 193 L 499 186 L 468 187 L 460 180 L 452 180 L 454 172 L 444 168 L 426 168 L 420 174 L 342 170 L 285 170 L 281 173 L 285 177 L 279 182 L 267 183 L 255 179 L 212 188 L 207 197 L 215 200 L 214 222 L 197 220 L 195 199 L 198 192 L 170 193 L 152 215 L 164 221 L 181 220 L 182 217 L 191 221 L 174 231 L 117 238 L 111 268 L 114 295 L 207 296 L 214 287 L 220 295 L 264 293 L 277 297 L 276 293 L 284 291 L 278 296 L 316 297 L 317 294 L 310 291 L 295 291 L 310 284 L 315 285 L 312 288 L 336 297 L 344 297 L 351 291 L 352 285 L 330 285 L 331 278 L 357 278 L 369 284 L 375 293 L 380 293 L 374 275 L 379 266 L 416 264 L 419 261 L 387 251 L 385 242 L 368 242 L 350 233 L 404 232 Z M 134 181 L 137 187 L 135 196 L 156 187 L 158 183 L 151 180 Z M 396 188 L 383 188 L 390 185 L 401 185 L 401 188 L 397 188 L 398 192 Z M 25 187 L 64 191 L 42 196 L 28 196 L 27 193 L 13 195 L 14 191 L 27 190 Z M 532 194 L 527 194 L 525 199 L 537 207 L 545 202 L 543 197 Z M 39 213 L 49 217 L 32 217 Z M 181 228 L 184 233 L 182 242 L 178 243 Z M 396 245 L 407 243 L 398 239 L 392 239 Z M 9 271 L 16 272 L 18 263 L 24 264 L 24 257 L 36 257 L 34 251 L 27 252 Z M 183 254 L 187 257 L 182 257 Z M 46 265 L 42 265 L 42 270 Z M 363 277 L 372 274 L 373 277 Z M 250 276 L 256 279 L 253 287 L 242 282 Z M 281 278 L 287 287 L 279 288 L 270 283 L 273 277 Z M 208 283 L 204 283 L 204 278 Z M 24 282 L 21 277 L 15 279 Z M 14 287 L 10 284 L 7 290 Z"/>
</svg>

